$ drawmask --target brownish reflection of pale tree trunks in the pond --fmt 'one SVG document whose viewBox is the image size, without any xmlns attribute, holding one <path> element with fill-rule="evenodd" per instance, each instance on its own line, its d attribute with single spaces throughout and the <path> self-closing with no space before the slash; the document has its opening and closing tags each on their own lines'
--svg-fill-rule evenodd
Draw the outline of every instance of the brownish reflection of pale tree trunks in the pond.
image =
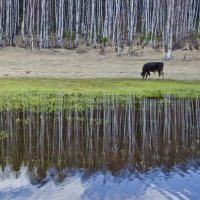
<svg viewBox="0 0 200 200">
<path fill-rule="evenodd" d="M 0 140 L 1 166 L 18 171 L 24 164 L 42 180 L 51 166 L 114 174 L 124 167 L 145 171 L 198 157 L 198 98 L 128 97 L 123 103 L 102 98 L 89 99 L 84 109 L 66 108 L 59 100 L 54 112 L 0 112 L 1 130 L 13 133 Z"/>
</svg>

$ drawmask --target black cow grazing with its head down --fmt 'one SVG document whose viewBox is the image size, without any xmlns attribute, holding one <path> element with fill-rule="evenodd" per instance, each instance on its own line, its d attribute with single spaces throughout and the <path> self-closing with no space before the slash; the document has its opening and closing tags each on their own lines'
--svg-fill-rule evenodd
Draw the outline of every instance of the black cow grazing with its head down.
<svg viewBox="0 0 200 200">
<path fill-rule="evenodd" d="M 162 76 L 164 78 L 164 72 L 163 72 L 163 67 L 164 67 L 164 63 L 163 62 L 149 62 L 149 63 L 145 63 L 143 65 L 142 68 L 142 78 L 144 79 L 149 75 L 150 76 L 150 72 L 154 72 L 154 74 L 156 72 L 158 72 L 158 79 L 160 76 Z"/>
</svg>

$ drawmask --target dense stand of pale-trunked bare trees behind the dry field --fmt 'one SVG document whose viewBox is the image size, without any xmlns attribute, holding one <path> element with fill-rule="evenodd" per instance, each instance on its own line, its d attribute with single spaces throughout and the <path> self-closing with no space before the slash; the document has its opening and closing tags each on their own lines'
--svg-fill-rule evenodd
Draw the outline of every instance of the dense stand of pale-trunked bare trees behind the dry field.
<svg viewBox="0 0 200 200">
<path fill-rule="evenodd" d="M 32 48 L 121 47 L 140 34 L 151 46 L 160 38 L 168 60 L 188 32 L 200 32 L 200 0 L 0 0 L 1 46 L 21 36 Z"/>
</svg>

